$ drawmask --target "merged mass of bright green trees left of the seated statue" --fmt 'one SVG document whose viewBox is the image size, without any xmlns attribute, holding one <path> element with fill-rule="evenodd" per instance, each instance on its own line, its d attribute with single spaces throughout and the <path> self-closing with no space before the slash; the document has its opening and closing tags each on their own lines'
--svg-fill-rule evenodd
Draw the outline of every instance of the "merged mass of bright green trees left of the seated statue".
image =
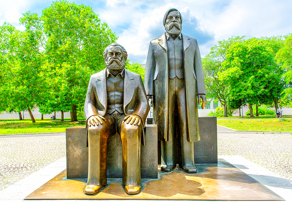
<svg viewBox="0 0 292 205">
<path fill-rule="evenodd" d="M 90 76 L 104 68 L 102 53 L 117 36 L 91 7 L 67 1 L 40 17 L 27 12 L 20 23 L 23 32 L 0 27 L 0 112 L 38 106 L 43 114 L 70 110 L 77 121 Z"/>
</svg>

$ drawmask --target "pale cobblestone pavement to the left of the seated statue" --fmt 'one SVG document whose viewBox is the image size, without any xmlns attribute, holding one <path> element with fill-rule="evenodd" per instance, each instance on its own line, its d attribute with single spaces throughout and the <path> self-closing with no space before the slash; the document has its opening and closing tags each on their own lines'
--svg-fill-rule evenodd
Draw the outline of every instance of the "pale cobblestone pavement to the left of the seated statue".
<svg viewBox="0 0 292 205">
<path fill-rule="evenodd" d="M 0 191 L 64 156 L 65 136 L 0 138 Z"/>
</svg>

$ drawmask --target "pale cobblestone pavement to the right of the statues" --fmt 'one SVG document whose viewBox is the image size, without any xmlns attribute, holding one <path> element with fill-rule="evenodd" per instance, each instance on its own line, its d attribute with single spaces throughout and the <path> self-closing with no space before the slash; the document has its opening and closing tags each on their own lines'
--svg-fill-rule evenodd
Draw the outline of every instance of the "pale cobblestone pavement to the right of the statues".
<svg viewBox="0 0 292 205">
<path fill-rule="evenodd" d="M 218 133 L 218 155 L 240 155 L 292 181 L 292 135 Z"/>
</svg>

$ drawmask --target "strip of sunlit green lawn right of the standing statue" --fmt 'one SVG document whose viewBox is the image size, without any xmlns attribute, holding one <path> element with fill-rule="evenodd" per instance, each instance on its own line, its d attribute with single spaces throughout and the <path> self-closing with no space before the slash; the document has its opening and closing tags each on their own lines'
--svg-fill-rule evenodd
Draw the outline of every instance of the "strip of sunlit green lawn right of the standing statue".
<svg viewBox="0 0 292 205">
<path fill-rule="evenodd" d="M 217 119 L 217 124 L 235 130 L 292 131 L 292 119 Z"/>
</svg>

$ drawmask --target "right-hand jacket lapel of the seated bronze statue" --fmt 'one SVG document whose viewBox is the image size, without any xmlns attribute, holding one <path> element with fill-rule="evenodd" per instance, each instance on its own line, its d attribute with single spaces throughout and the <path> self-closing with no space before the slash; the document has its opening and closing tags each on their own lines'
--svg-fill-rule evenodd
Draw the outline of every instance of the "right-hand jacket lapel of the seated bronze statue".
<svg viewBox="0 0 292 205">
<path fill-rule="evenodd" d="M 124 109 L 131 102 L 135 91 L 135 79 L 130 71 L 125 69 L 124 78 Z"/>
</svg>

